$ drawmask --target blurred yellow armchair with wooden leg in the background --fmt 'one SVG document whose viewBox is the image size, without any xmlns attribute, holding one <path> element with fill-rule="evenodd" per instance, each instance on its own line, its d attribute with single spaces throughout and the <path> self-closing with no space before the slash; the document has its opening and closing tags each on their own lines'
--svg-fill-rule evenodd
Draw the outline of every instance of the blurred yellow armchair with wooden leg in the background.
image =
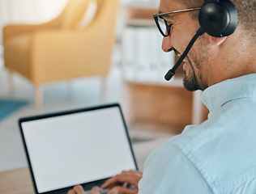
<svg viewBox="0 0 256 194">
<path fill-rule="evenodd" d="M 4 62 L 10 72 L 36 86 L 86 76 L 109 74 L 118 0 L 69 0 L 49 23 L 3 28 Z"/>
</svg>

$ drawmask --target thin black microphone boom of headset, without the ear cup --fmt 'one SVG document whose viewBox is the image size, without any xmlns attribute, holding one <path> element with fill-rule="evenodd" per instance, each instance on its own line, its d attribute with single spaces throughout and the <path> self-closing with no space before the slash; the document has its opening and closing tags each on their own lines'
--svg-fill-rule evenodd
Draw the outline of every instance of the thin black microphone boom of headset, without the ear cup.
<svg viewBox="0 0 256 194">
<path fill-rule="evenodd" d="M 194 37 L 190 40 L 190 43 L 188 44 L 188 46 L 186 47 L 184 53 L 181 55 L 181 57 L 179 58 L 179 60 L 177 61 L 177 63 L 173 66 L 173 68 L 171 70 L 169 70 L 167 72 L 167 74 L 165 74 L 164 78 L 169 81 L 171 78 L 173 78 L 173 75 L 175 74 L 175 71 L 177 70 L 177 68 L 179 67 L 179 65 L 181 65 L 181 62 L 184 60 L 184 58 L 186 57 L 186 55 L 190 52 L 190 49 L 192 48 L 195 40 L 198 39 L 199 36 L 202 36 L 204 34 L 204 31 L 201 27 L 198 28 L 197 32 L 195 33 Z"/>
</svg>

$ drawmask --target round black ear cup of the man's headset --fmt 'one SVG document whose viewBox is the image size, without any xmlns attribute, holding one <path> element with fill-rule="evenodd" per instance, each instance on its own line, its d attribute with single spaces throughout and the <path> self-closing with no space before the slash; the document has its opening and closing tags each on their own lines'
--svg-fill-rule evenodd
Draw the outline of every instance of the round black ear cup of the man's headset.
<svg viewBox="0 0 256 194">
<path fill-rule="evenodd" d="M 210 36 L 229 36 L 238 26 L 238 12 L 229 0 L 208 1 L 199 12 L 199 23 Z"/>
</svg>

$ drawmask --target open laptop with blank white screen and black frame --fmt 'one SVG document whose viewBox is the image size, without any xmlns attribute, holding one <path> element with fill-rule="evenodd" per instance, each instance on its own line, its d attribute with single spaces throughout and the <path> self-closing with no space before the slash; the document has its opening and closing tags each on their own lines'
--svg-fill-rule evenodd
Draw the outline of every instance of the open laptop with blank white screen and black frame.
<svg viewBox="0 0 256 194">
<path fill-rule="evenodd" d="M 19 119 L 36 194 L 100 186 L 138 170 L 118 103 Z"/>
</svg>

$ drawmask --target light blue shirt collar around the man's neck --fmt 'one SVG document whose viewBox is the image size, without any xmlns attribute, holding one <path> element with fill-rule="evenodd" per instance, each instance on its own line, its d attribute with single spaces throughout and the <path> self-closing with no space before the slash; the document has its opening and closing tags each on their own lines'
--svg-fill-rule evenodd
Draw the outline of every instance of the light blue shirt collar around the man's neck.
<svg viewBox="0 0 256 194">
<path fill-rule="evenodd" d="M 201 96 L 211 112 L 233 99 L 256 97 L 256 74 L 228 79 L 208 87 Z"/>
</svg>

